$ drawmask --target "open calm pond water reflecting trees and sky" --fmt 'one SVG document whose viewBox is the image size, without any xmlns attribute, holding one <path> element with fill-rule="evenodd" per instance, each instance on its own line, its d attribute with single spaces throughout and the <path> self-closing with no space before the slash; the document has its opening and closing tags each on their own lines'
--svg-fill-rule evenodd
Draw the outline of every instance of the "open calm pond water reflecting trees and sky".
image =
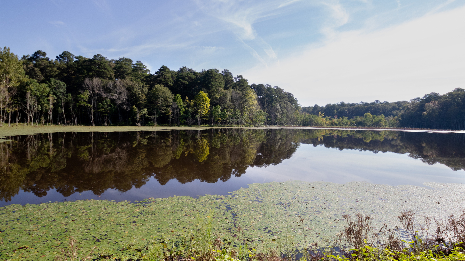
<svg viewBox="0 0 465 261">
<path fill-rule="evenodd" d="M 218 129 L 66 132 L 0 144 L 0 205 L 226 195 L 250 183 L 465 183 L 465 134 Z"/>
</svg>

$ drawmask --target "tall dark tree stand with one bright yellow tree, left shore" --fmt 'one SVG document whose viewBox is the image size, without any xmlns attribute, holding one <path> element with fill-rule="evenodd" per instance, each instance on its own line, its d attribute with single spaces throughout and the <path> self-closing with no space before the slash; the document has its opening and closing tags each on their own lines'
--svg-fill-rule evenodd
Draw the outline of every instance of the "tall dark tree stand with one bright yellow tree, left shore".
<svg viewBox="0 0 465 261">
<path fill-rule="evenodd" d="M 7 47 L 0 61 L 0 124 L 294 124 L 300 109 L 291 93 L 227 69 L 152 73 L 126 57 L 62 52 L 53 60 L 39 50 L 19 59 Z"/>
</svg>

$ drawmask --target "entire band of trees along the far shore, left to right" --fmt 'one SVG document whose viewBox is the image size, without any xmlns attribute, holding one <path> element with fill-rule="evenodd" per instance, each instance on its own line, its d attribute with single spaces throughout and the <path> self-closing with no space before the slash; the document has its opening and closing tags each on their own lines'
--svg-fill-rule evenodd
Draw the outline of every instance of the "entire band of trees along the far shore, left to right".
<svg viewBox="0 0 465 261">
<path fill-rule="evenodd" d="M 304 125 L 465 129 L 465 90 L 410 101 L 301 107 L 290 92 L 227 69 L 0 49 L 0 125 Z"/>
</svg>

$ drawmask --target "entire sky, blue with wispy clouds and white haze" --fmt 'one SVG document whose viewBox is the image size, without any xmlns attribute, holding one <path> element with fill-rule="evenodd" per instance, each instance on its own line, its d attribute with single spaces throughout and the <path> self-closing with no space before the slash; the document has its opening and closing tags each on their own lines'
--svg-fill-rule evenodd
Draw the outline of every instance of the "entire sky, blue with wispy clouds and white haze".
<svg viewBox="0 0 465 261">
<path fill-rule="evenodd" d="M 465 88 L 464 0 L 18 0 L 2 9 L 0 45 L 19 56 L 226 68 L 303 106 Z"/>
</svg>

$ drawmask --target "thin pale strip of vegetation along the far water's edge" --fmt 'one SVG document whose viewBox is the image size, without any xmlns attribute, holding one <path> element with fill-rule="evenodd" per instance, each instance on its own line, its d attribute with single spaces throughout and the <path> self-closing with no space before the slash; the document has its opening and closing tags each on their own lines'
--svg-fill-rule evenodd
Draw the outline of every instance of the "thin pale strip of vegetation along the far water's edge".
<svg viewBox="0 0 465 261">
<path fill-rule="evenodd" d="M 171 131 L 171 130 L 206 130 L 206 129 L 309 129 L 309 130 L 359 130 L 359 131 L 413 131 L 437 133 L 465 133 L 462 130 L 434 130 L 420 128 L 393 128 L 393 127 L 354 127 L 354 126 L 3 126 L 0 127 L 0 137 L 33 135 L 53 132 L 114 132 L 114 131 Z"/>
</svg>

